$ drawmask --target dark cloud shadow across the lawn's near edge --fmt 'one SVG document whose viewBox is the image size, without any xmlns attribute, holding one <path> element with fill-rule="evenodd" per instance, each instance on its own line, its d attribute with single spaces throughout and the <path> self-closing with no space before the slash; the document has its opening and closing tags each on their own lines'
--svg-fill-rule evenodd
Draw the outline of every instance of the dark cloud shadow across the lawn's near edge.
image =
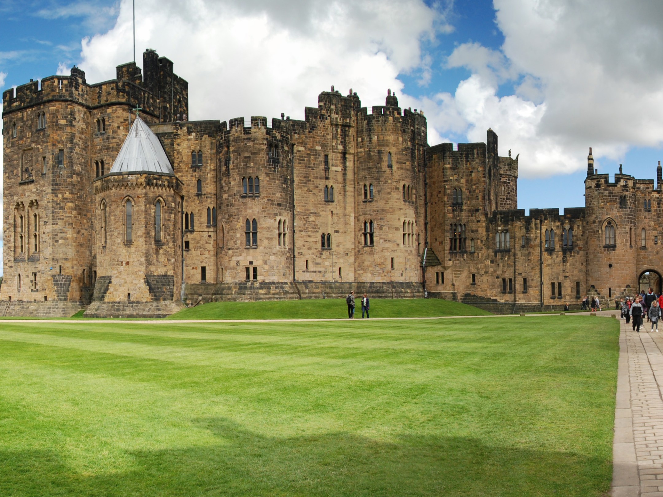
<svg viewBox="0 0 663 497">
<path fill-rule="evenodd" d="M 80 474 L 53 451 L 0 451 L 3 496 L 599 496 L 608 459 L 461 437 L 265 437 L 201 419 L 219 443 L 133 451 L 133 469 Z"/>
</svg>

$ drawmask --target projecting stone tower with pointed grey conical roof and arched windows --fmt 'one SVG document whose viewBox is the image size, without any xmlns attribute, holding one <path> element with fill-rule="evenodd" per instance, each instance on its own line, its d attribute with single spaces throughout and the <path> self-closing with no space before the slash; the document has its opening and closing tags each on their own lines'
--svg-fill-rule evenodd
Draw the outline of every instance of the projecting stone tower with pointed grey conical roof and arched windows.
<svg viewBox="0 0 663 497">
<path fill-rule="evenodd" d="M 85 315 L 164 317 L 180 309 L 182 183 L 142 119 L 94 192 L 97 278 Z"/>
</svg>

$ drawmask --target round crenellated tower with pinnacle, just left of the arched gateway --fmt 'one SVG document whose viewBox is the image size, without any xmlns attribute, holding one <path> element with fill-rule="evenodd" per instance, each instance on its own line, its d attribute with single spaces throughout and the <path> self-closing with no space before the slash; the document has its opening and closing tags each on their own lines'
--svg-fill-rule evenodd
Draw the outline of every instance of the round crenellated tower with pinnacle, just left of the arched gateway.
<svg viewBox="0 0 663 497">
<path fill-rule="evenodd" d="M 591 174 L 590 174 L 591 171 Z M 605 302 L 636 292 L 636 192 L 627 174 L 595 174 L 589 148 L 585 178 L 585 247 L 587 288 Z"/>
</svg>

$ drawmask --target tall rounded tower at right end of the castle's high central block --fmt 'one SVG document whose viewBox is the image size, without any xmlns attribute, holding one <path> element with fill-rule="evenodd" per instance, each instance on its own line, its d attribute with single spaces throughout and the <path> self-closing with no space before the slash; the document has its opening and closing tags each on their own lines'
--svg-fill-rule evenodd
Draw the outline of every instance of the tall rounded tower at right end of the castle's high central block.
<svg viewBox="0 0 663 497">
<path fill-rule="evenodd" d="M 396 95 L 387 91 L 385 106 L 357 123 L 355 174 L 355 279 L 377 282 L 421 281 L 424 213 L 423 168 L 416 131 L 423 117 L 401 114 Z M 425 121 L 423 123 L 425 133 Z M 423 164 L 421 164 L 422 166 Z"/>
</svg>

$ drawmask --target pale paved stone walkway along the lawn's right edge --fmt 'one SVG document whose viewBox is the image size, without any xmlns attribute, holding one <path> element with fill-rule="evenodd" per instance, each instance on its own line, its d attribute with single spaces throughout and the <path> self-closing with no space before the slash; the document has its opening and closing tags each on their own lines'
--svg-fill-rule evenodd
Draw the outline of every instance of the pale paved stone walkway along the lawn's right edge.
<svg viewBox="0 0 663 497">
<path fill-rule="evenodd" d="M 663 497 L 663 323 L 650 329 L 621 322 L 613 497 Z"/>
</svg>

